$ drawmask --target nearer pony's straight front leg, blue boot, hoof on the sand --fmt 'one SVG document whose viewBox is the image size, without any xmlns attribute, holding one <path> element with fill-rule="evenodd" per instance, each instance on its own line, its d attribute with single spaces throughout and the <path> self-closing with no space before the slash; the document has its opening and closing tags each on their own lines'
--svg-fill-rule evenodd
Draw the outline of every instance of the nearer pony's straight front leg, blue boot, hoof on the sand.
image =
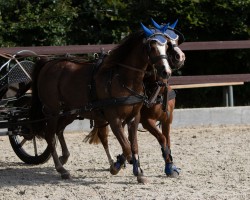
<svg viewBox="0 0 250 200">
<path fill-rule="evenodd" d="M 147 183 L 147 179 L 143 174 L 143 170 L 140 166 L 140 159 L 138 154 L 138 141 L 137 141 L 137 130 L 140 122 L 140 114 L 135 116 L 135 119 L 128 123 L 129 141 L 131 144 L 132 151 L 132 162 L 133 162 L 133 174 L 137 176 L 137 181 L 139 183 Z"/>
</svg>

